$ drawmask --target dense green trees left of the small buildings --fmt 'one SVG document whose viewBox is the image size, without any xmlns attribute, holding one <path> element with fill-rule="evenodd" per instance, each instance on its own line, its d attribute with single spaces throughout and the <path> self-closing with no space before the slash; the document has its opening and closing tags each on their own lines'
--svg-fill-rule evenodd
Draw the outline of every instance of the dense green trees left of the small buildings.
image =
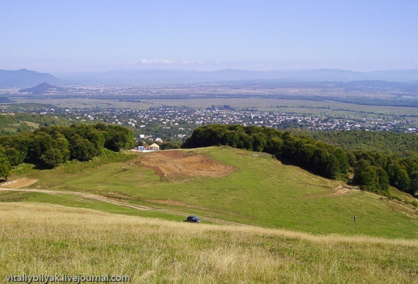
<svg viewBox="0 0 418 284">
<path fill-rule="evenodd" d="M 130 129 L 119 125 L 40 127 L 34 132 L 0 137 L 0 177 L 23 162 L 54 167 L 69 160 L 88 161 L 104 149 L 120 151 L 134 145 Z"/>
</svg>

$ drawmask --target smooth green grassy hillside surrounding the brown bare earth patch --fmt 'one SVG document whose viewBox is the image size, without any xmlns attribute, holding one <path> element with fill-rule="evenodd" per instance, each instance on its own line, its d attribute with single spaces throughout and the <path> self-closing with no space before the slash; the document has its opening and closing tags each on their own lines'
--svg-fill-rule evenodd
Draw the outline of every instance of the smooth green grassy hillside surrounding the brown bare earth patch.
<svg viewBox="0 0 418 284">
<path fill-rule="evenodd" d="M 39 180 L 34 184 L 36 188 L 93 192 L 128 203 L 199 214 L 204 220 L 210 217 L 317 234 L 418 237 L 418 214 L 413 206 L 359 190 L 341 192 L 336 190 L 341 181 L 286 166 L 263 153 L 229 147 L 177 151 L 210 157 L 234 170 L 219 177 L 162 177 L 155 167 L 141 164 L 156 154 L 142 153 L 120 161 L 115 158 L 108 164 L 93 161 L 53 170 L 21 168 L 12 178 L 32 177 Z M 31 196 L 17 199 L 48 202 L 45 195 Z M 8 197 L 9 194 L 2 194 L 0 200 L 10 200 Z M 67 205 L 56 197 L 51 203 Z M 101 209 L 79 201 L 73 206 Z M 354 215 L 357 222 L 353 222 Z M 184 216 L 168 218 L 182 220 Z"/>
</svg>

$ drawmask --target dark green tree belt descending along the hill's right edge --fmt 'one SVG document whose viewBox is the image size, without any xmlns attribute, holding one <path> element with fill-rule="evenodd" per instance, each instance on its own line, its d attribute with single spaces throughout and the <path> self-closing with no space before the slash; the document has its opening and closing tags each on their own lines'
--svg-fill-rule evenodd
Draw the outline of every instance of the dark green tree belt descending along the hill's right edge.
<svg viewBox="0 0 418 284">
<path fill-rule="evenodd" d="M 350 134 L 343 135 L 348 139 L 347 136 Z M 406 144 L 409 140 L 415 140 L 412 136 L 405 137 L 407 138 L 396 134 L 389 135 L 389 138 L 396 138 L 397 143 L 403 139 L 406 139 L 404 140 Z M 371 136 L 362 139 L 369 138 Z M 376 135 L 375 139 L 378 138 L 380 135 Z M 418 192 L 418 157 L 413 155 L 415 151 L 396 151 L 397 155 L 395 155 L 371 150 L 343 150 L 339 146 L 315 140 L 308 135 L 242 125 L 198 127 L 182 147 L 214 145 L 228 145 L 269 153 L 284 163 L 294 164 L 322 177 L 350 181 L 354 185 L 359 185 L 362 190 L 387 195 L 389 185 L 392 185 L 412 195 Z M 399 146 L 404 150 L 404 143 Z M 349 179 L 349 171 L 354 173 L 352 179 Z"/>
</svg>

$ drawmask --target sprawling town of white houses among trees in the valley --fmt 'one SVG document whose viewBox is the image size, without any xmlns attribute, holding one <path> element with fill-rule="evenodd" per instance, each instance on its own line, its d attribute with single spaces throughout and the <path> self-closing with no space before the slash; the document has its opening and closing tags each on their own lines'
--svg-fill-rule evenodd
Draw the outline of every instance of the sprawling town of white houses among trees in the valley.
<svg viewBox="0 0 418 284">
<path fill-rule="evenodd" d="M 302 112 L 302 111 L 301 111 Z M 314 131 L 323 130 L 373 130 L 404 131 L 417 133 L 416 116 L 384 116 L 380 114 L 354 114 L 354 118 L 328 117 L 316 115 L 286 114 L 286 112 L 262 112 L 258 110 L 234 109 L 193 109 L 183 107 L 161 107 L 148 110 L 132 109 L 71 109 L 75 119 L 97 120 L 138 129 L 140 139 L 152 137 L 156 127 L 162 127 L 169 138 L 184 138 L 190 135 L 194 127 L 212 123 L 264 125 L 266 127 L 300 127 Z M 337 114 L 345 116 L 347 114 Z M 161 135 L 159 133 L 159 135 Z M 168 138 L 168 137 L 166 137 Z M 158 142 L 158 138 L 155 140 Z"/>
</svg>

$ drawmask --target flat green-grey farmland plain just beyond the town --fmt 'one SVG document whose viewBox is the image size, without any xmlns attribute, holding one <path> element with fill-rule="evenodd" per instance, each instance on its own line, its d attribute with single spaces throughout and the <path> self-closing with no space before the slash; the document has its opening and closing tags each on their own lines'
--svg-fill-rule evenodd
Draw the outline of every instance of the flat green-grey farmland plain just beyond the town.
<svg viewBox="0 0 418 284">
<path fill-rule="evenodd" d="M 18 103 L 46 103 L 62 108 L 108 108 L 145 110 L 150 107 L 183 107 L 195 109 L 207 108 L 212 105 L 230 105 L 235 109 L 253 108 L 263 112 L 286 112 L 306 116 L 338 117 L 374 117 L 403 116 L 418 118 L 414 107 L 390 107 L 378 105 L 355 105 L 336 101 L 307 101 L 288 99 L 141 99 L 140 103 L 103 99 L 14 99 Z"/>
</svg>

